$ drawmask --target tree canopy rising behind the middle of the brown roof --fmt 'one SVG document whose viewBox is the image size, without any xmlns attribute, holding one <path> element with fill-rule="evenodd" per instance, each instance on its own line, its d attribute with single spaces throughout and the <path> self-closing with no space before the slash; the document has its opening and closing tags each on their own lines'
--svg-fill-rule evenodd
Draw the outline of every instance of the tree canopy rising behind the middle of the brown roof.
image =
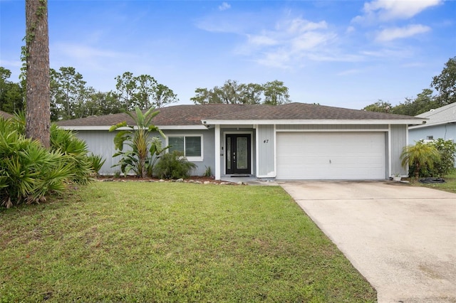
<svg viewBox="0 0 456 303">
<path fill-rule="evenodd" d="M 281 105 L 290 102 L 288 87 L 279 80 L 264 84 L 238 83 L 236 80 L 227 80 L 222 86 L 212 89 L 198 87 L 195 97 L 191 97 L 195 104 L 269 104 Z"/>
</svg>

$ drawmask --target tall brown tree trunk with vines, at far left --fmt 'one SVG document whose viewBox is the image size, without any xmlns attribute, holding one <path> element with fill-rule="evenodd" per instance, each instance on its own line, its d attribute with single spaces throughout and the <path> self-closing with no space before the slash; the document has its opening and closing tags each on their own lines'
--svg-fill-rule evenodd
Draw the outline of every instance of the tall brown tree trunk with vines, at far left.
<svg viewBox="0 0 456 303">
<path fill-rule="evenodd" d="M 50 147 L 48 1 L 26 0 L 26 137 Z"/>
</svg>

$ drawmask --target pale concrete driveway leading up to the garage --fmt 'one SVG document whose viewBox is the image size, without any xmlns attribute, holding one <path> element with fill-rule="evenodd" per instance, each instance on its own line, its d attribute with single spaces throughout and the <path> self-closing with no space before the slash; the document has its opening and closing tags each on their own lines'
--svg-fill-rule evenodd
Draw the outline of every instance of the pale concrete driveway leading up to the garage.
<svg viewBox="0 0 456 303">
<path fill-rule="evenodd" d="M 456 194 L 398 182 L 279 183 L 378 302 L 456 302 Z"/>
</svg>

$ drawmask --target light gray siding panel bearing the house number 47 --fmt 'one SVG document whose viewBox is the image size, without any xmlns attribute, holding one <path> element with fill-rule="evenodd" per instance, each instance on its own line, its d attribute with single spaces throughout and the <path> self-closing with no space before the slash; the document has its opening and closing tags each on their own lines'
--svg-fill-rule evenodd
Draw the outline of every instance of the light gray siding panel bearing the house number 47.
<svg viewBox="0 0 456 303">
<path fill-rule="evenodd" d="M 259 178 L 274 178 L 274 126 L 259 125 L 258 136 L 258 171 Z"/>
</svg>

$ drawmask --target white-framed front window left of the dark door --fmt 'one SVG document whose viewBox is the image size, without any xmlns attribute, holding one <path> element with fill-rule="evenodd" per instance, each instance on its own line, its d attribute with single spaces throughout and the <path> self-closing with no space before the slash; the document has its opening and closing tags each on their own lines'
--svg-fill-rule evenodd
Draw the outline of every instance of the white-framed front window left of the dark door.
<svg viewBox="0 0 456 303">
<path fill-rule="evenodd" d="M 181 151 L 188 161 L 202 161 L 202 136 L 168 136 L 169 152 Z"/>
</svg>

